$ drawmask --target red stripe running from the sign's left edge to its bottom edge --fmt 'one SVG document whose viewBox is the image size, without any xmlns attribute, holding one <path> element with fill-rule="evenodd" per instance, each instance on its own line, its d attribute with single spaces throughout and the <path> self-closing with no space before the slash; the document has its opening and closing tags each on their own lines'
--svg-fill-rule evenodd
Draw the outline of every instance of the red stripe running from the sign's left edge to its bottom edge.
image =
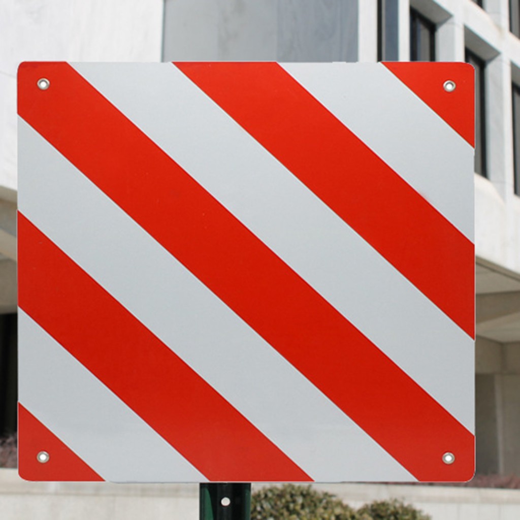
<svg viewBox="0 0 520 520">
<path fill-rule="evenodd" d="M 20 307 L 207 478 L 311 480 L 21 214 L 18 240 Z"/>
</svg>

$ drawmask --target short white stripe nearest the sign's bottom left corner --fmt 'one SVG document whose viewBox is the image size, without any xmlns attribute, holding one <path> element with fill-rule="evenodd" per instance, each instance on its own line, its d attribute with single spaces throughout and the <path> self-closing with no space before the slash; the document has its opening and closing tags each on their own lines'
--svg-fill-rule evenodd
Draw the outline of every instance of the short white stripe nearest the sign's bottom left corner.
<svg viewBox="0 0 520 520">
<path fill-rule="evenodd" d="M 102 478 L 205 482 L 204 475 L 22 309 L 18 329 L 21 404 Z"/>
</svg>

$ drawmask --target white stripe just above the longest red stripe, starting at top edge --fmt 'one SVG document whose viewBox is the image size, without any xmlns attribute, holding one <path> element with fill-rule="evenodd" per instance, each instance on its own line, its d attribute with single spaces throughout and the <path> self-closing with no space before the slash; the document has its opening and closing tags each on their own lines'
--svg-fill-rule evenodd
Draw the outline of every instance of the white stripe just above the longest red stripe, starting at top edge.
<svg viewBox="0 0 520 520">
<path fill-rule="evenodd" d="M 172 65 L 74 67 L 473 431 L 471 337 L 216 103 Z"/>
</svg>

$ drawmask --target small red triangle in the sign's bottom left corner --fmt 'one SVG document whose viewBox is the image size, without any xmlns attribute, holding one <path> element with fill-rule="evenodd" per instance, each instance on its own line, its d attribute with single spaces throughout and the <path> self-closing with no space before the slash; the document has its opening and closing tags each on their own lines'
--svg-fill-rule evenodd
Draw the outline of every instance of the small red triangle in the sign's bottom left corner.
<svg viewBox="0 0 520 520">
<path fill-rule="evenodd" d="M 49 454 L 48 462 L 38 462 L 40 451 Z M 18 404 L 18 473 L 25 480 L 82 482 L 103 480 L 47 426 Z"/>
</svg>

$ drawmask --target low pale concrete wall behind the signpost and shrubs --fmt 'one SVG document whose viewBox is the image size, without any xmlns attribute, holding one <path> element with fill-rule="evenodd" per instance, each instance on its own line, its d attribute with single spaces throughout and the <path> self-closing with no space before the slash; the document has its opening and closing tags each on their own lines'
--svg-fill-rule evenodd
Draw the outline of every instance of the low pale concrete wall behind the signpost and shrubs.
<svg viewBox="0 0 520 520">
<path fill-rule="evenodd" d="M 314 487 L 356 508 L 373 500 L 398 498 L 430 514 L 432 520 L 520 518 L 517 490 L 378 484 Z M 198 486 L 29 483 L 16 470 L 0 470 L 0 516 L 2 520 L 197 520 Z"/>
</svg>

